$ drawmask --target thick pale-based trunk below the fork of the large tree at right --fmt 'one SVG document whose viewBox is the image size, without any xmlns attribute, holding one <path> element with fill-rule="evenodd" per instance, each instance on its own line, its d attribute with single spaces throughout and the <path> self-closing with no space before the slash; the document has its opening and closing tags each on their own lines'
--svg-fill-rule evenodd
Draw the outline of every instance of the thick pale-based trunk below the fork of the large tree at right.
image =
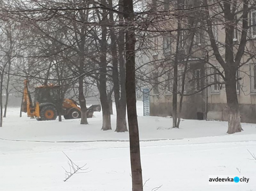
<svg viewBox="0 0 256 191">
<path fill-rule="evenodd" d="M 240 123 L 239 103 L 236 89 L 236 70 L 225 71 L 226 74 L 226 96 L 229 111 L 228 134 L 242 131 Z"/>
</svg>

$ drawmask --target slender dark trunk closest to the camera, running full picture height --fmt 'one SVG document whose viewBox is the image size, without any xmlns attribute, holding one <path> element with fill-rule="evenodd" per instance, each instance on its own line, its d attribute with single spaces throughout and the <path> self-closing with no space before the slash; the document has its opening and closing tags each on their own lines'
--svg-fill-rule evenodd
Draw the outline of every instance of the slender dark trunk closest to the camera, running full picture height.
<svg viewBox="0 0 256 191">
<path fill-rule="evenodd" d="M 140 139 L 136 110 L 135 81 L 135 45 L 136 38 L 133 28 L 133 1 L 124 1 L 124 18 L 126 23 L 126 98 L 130 138 L 130 160 L 132 191 L 143 191 L 142 170 L 140 160 Z"/>
</svg>

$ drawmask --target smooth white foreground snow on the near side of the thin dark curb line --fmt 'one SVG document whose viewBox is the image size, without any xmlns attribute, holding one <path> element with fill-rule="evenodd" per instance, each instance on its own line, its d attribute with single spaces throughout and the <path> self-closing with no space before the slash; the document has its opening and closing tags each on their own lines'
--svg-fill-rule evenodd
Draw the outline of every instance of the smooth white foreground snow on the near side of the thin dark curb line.
<svg viewBox="0 0 256 191">
<path fill-rule="evenodd" d="M 239 168 L 253 179 L 256 162 L 249 160 L 247 149 L 255 151 L 256 141 L 205 143 L 206 139 L 141 142 L 143 178 L 150 178 L 144 189 L 162 185 L 162 191 L 254 190 L 255 181 L 240 186 L 208 185 L 208 175 L 239 175 Z M 0 145 L 0 190 L 131 190 L 128 142 L 0 141 Z M 81 166 L 87 163 L 91 172 L 63 182 L 62 167 L 68 168 L 68 160 L 62 151 Z"/>
</svg>

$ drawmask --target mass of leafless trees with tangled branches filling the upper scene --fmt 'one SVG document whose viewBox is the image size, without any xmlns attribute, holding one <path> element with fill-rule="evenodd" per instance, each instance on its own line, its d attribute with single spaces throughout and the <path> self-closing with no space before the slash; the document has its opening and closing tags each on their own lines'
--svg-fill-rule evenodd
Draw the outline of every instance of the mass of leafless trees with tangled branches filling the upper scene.
<svg viewBox="0 0 256 191">
<path fill-rule="evenodd" d="M 29 79 L 31 84 L 61 86 L 59 103 L 73 91 L 81 107 L 81 124 L 88 124 L 86 95 L 97 88 L 102 130 L 112 128 L 109 103 L 113 97 L 115 131 L 128 131 L 127 107 L 133 190 L 143 190 L 136 91 L 144 86 L 154 90 L 159 76 L 165 76 L 161 83 L 173 93 L 170 126 L 179 127 L 184 96 L 223 85 L 228 133 L 242 131 L 237 71 L 255 58 L 255 15 L 248 16 L 255 10 L 254 1 L 3 0 L 0 7 L 1 119 L 3 87 L 10 91 L 11 78 L 17 83 Z M 222 40 L 218 33 L 223 34 Z M 234 41 L 236 35 L 239 43 Z M 156 56 L 158 50 L 163 50 L 162 56 Z M 145 56 L 152 59 L 145 62 Z M 200 71 L 187 79 L 187 74 L 194 72 L 189 63 L 195 60 L 199 68 L 207 64 L 215 73 Z M 216 75 L 223 81 L 215 80 Z M 213 82 L 202 83 L 207 76 L 213 77 Z M 188 83 L 196 89 L 187 90 Z M 22 89 L 17 84 L 13 87 Z"/>
</svg>

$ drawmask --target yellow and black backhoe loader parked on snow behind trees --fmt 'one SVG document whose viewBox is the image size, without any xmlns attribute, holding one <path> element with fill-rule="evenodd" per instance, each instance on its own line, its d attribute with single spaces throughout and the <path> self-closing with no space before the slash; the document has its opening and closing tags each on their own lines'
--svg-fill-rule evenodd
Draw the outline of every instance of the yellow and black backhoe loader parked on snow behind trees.
<svg viewBox="0 0 256 191">
<path fill-rule="evenodd" d="M 62 102 L 62 108 L 57 109 L 59 86 L 42 85 L 35 88 L 34 104 L 32 103 L 29 91 L 28 80 L 24 81 L 22 111 L 27 113 L 28 117 L 35 117 L 38 121 L 55 120 L 58 112 L 65 119 L 81 118 L 81 109 L 74 100 L 65 98 Z M 87 108 L 87 118 L 93 117 L 94 111 L 100 111 L 100 105 L 92 105 Z"/>
</svg>

